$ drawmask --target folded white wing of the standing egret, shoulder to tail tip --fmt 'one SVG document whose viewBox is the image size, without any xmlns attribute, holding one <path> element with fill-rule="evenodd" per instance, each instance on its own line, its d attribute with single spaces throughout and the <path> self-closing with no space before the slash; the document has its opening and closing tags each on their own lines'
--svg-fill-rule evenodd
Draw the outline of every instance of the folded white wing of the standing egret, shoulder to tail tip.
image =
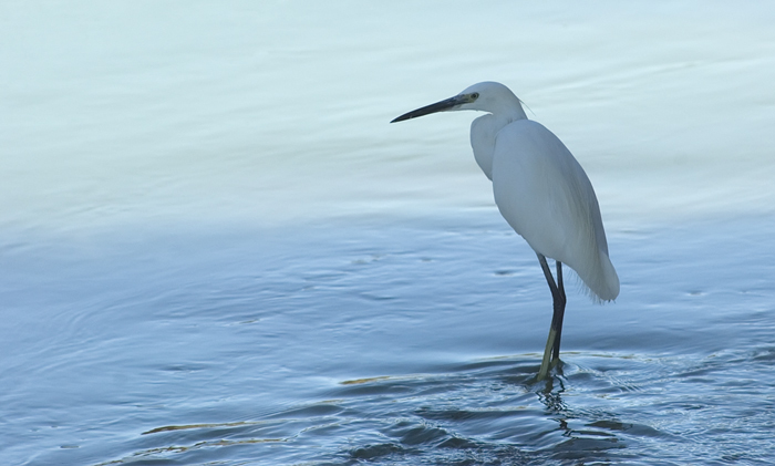
<svg viewBox="0 0 775 466">
<path fill-rule="evenodd" d="M 534 250 L 568 265 L 598 298 L 616 298 L 619 278 L 595 190 L 557 136 L 529 120 L 500 130 L 493 190 L 506 221 Z"/>
</svg>

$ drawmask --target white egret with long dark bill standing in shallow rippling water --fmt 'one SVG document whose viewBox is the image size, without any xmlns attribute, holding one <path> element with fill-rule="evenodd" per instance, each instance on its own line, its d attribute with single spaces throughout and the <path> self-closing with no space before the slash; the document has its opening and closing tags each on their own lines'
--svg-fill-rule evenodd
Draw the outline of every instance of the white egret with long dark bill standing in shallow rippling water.
<svg viewBox="0 0 775 466">
<path fill-rule="evenodd" d="M 474 84 L 391 123 L 458 110 L 487 112 L 471 125 L 474 157 L 493 182 L 500 214 L 536 251 L 551 290 L 554 315 L 538 372 L 542 380 L 559 360 L 566 303 L 562 263 L 578 273 L 592 297 L 610 301 L 619 296 L 598 199 L 565 144 L 540 123 L 527 120 L 519 99 L 500 83 Z M 557 281 L 547 257 L 556 261 Z"/>
</svg>

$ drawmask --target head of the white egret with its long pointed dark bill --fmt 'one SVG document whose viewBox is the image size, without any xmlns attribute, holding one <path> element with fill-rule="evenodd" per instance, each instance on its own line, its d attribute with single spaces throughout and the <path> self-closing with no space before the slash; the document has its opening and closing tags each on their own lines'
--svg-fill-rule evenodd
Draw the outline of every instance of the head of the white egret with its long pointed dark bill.
<svg viewBox="0 0 775 466">
<path fill-rule="evenodd" d="M 458 110 L 477 110 L 493 114 L 521 115 L 519 99 L 505 85 L 492 81 L 476 83 L 454 97 L 445 99 L 431 105 L 405 113 L 391 123 L 403 122 L 404 120 L 416 118 L 417 116 L 430 115 L 436 112 L 450 112 Z"/>
</svg>

